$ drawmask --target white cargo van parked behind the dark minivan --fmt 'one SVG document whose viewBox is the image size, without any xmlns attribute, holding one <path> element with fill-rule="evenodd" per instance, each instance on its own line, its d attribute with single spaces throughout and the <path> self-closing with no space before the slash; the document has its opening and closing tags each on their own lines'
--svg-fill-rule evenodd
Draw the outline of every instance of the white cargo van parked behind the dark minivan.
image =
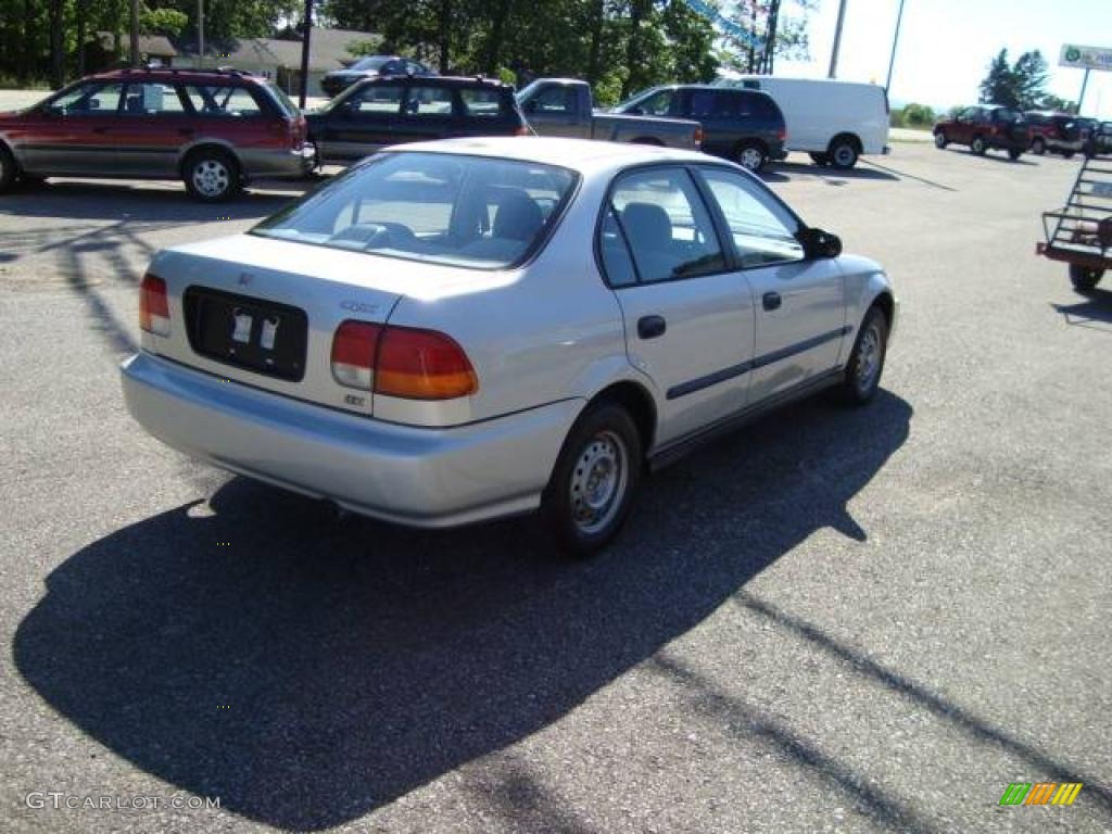
<svg viewBox="0 0 1112 834">
<path fill-rule="evenodd" d="M 810 153 L 816 165 L 853 168 L 862 153 L 888 152 L 888 97 L 878 85 L 774 76 L 716 83 L 772 96 L 787 122 L 785 147 Z"/>
</svg>

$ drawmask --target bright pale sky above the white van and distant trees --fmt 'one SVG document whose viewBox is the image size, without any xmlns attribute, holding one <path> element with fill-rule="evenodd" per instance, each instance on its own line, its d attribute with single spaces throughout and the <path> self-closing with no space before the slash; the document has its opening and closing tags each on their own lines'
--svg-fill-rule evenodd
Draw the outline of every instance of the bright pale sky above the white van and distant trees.
<svg viewBox="0 0 1112 834">
<path fill-rule="evenodd" d="M 900 0 L 847 0 L 837 77 L 884 83 Z M 825 78 L 838 0 L 821 0 L 811 18 L 810 62 L 777 61 L 777 76 Z M 795 13 L 792 0 L 784 11 Z M 1009 59 L 1039 49 L 1050 91 L 1076 100 L 1083 70 L 1059 67 L 1063 43 L 1112 48 L 1112 0 L 904 0 L 892 73 L 894 100 L 932 107 L 975 103 L 977 85 L 1002 47 Z M 1091 72 L 1082 115 L 1112 119 L 1112 72 Z"/>
</svg>

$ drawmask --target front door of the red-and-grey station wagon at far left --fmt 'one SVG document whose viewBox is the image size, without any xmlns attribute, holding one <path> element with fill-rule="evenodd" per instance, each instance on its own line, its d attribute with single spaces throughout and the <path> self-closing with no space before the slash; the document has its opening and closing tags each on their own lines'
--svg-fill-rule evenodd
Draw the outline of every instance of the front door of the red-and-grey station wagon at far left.
<svg viewBox="0 0 1112 834">
<path fill-rule="evenodd" d="M 116 147 L 109 136 L 117 121 L 122 85 L 90 81 L 44 105 L 26 142 L 21 163 L 28 173 L 111 175 Z"/>
</svg>

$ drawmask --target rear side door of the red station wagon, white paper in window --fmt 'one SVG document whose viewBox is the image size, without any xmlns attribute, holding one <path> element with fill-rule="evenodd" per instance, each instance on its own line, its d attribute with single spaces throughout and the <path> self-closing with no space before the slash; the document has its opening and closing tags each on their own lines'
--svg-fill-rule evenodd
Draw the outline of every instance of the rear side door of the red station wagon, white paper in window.
<svg viewBox="0 0 1112 834">
<path fill-rule="evenodd" d="M 109 136 L 116 143 L 119 171 L 126 176 L 177 173 L 179 150 L 196 135 L 195 118 L 176 85 L 128 83 L 123 107 Z"/>
</svg>

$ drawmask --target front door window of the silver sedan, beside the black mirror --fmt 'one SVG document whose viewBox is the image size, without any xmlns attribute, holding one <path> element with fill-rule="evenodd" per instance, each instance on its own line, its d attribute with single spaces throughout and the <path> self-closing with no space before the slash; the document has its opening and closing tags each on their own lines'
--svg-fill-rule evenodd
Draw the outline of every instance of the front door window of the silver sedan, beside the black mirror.
<svg viewBox="0 0 1112 834">
<path fill-rule="evenodd" d="M 743 269 L 803 260 L 803 246 L 795 238 L 798 220 L 761 193 L 759 186 L 733 171 L 704 168 L 699 173 L 729 226 Z"/>
</svg>

